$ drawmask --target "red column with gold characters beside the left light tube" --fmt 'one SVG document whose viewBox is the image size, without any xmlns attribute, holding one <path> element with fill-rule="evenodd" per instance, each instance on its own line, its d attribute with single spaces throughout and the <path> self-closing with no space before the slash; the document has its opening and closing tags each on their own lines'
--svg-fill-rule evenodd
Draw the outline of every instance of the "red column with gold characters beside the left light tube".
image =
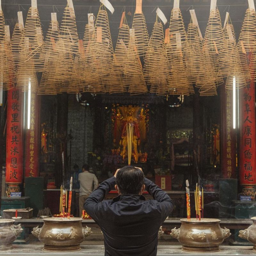
<svg viewBox="0 0 256 256">
<path fill-rule="evenodd" d="M 31 93 L 30 127 L 26 130 L 25 177 L 39 174 L 39 96 Z"/>
</svg>

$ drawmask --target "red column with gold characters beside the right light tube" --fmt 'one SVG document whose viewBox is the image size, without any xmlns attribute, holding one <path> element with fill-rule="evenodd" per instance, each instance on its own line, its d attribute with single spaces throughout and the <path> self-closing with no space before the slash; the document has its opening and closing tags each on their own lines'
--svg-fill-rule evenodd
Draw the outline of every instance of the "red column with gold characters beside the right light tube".
<svg viewBox="0 0 256 256">
<path fill-rule="evenodd" d="M 223 179 L 236 179 L 236 133 L 232 91 L 221 88 L 221 169 Z"/>
</svg>

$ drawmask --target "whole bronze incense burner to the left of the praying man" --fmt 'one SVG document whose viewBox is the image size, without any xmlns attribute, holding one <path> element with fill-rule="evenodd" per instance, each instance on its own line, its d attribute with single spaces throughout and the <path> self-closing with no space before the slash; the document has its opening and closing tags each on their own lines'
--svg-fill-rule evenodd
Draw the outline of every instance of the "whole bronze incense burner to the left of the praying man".
<svg viewBox="0 0 256 256">
<path fill-rule="evenodd" d="M 44 243 L 44 251 L 72 252 L 81 249 L 80 243 L 91 235 L 91 228 L 82 227 L 81 218 L 45 218 L 42 228 L 33 228 L 32 234 Z"/>
</svg>

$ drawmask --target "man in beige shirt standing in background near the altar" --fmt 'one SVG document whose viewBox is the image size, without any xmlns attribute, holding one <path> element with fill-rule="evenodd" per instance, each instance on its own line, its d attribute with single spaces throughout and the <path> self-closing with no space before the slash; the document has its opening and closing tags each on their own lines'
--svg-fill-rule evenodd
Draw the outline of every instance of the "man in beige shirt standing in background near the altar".
<svg viewBox="0 0 256 256">
<path fill-rule="evenodd" d="M 82 216 L 84 210 L 84 202 L 90 196 L 92 191 L 99 185 L 95 174 L 89 172 L 89 165 L 84 164 L 82 172 L 78 174 L 78 181 L 80 182 L 79 190 L 79 216 Z"/>
</svg>

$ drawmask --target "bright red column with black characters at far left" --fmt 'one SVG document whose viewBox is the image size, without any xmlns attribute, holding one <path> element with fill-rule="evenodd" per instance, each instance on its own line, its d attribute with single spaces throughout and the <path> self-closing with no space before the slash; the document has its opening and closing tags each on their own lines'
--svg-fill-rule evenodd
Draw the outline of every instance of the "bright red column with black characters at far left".
<svg viewBox="0 0 256 256">
<path fill-rule="evenodd" d="M 23 180 L 23 93 L 13 87 L 7 92 L 6 120 L 6 172 L 7 184 L 20 184 Z"/>
</svg>

